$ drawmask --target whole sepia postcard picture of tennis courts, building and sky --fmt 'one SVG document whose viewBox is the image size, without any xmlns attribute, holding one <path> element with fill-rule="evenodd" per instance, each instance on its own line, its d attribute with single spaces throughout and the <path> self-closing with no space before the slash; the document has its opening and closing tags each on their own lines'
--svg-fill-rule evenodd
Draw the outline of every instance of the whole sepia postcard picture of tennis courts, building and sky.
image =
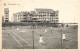
<svg viewBox="0 0 80 51">
<path fill-rule="evenodd" d="M 76 3 L 3 1 L 2 49 L 78 49 Z"/>
</svg>

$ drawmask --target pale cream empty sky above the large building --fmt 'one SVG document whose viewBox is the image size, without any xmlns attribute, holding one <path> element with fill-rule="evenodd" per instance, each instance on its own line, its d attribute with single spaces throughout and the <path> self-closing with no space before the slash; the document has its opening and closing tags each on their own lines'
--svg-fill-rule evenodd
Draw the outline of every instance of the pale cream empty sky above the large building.
<svg viewBox="0 0 80 51">
<path fill-rule="evenodd" d="M 59 10 L 59 22 L 63 23 L 78 23 L 79 1 L 78 0 L 6 0 L 4 8 L 9 8 L 9 19 L 13 20 L 13 13 L 20 11 L 34 11 L 36 8 L 45 8 Z"/>
</svg>

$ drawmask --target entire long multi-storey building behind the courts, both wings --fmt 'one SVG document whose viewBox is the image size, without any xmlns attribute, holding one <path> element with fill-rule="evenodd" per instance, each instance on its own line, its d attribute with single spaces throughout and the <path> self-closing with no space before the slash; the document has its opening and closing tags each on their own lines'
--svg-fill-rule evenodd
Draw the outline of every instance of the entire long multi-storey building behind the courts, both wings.
<svg viewBox="0 0 80 51">
<path fill-rule="evenodd" d="M 52 9 L 35 9 L 34 11 L 22 11 L 14 13 L 14 22 L 49 22 L 58 23 L 58 12 Z"/>
</svg>

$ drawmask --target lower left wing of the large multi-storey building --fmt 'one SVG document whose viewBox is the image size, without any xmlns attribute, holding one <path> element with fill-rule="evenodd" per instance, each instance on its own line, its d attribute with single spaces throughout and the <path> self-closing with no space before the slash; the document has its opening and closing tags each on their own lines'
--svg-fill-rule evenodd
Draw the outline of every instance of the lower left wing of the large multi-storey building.
<svg viewBox="0 0 80 51">
<path fill-rule="evenodd" d="M 14 22 L 27 22 L 31 20 L 31 13 L 27 11 L 17 12 L 13 14 Z"/>
</svg>

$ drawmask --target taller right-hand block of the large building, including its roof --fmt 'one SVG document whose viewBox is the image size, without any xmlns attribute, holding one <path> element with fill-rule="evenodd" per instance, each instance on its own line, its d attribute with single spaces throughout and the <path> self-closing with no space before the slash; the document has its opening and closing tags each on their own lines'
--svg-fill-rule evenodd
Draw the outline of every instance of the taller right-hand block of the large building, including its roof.
<svg viewBox="0 0 80 51">
<path fill-rule="evenodd" d="M 58 23 L 58 11 L 52 9 L 36 9 L 35 12 L 39 21 Z"/>
</svg>

